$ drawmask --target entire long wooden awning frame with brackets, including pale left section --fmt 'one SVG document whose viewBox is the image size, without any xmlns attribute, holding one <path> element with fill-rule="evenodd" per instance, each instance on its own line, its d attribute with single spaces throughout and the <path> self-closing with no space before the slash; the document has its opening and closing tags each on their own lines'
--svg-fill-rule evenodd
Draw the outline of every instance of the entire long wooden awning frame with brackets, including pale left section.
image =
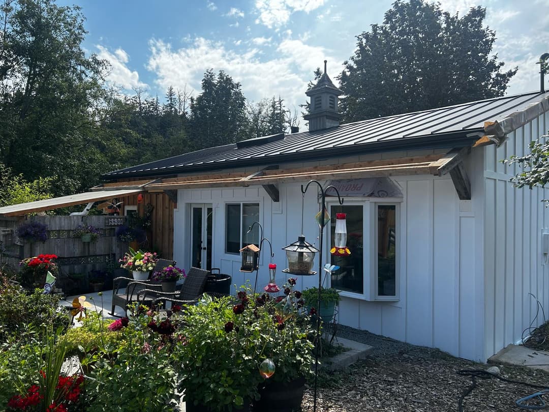
<svg viewBox="0 0 549 412">
<path fill-rule="evenodd" d="M 177 202 L 177 189 L 206 187 L 248 187 L 261 185 L 274 202 L 279 201 L 278 183 L 318 180 L 362 179 L 402 175 L 450 174 L 460 199 L 470 199 L 470 183 L 463 158 L 469 147 L 452 149 L 446 154 L 429 154 L 416 157 L 370 160 L 304 168 L 279 169 L 278 165 L 249 173 L 200 174 L 166 179 L 110 182 L 91 188 L 91 192 L 57 197 L 44 201 L 21 203 L 0 208 L 0 216 L 20 216 L 36 211 L 57 209 L 75 204 L 113 199 L 139 192 L 166 192 Z"/>
</svg>

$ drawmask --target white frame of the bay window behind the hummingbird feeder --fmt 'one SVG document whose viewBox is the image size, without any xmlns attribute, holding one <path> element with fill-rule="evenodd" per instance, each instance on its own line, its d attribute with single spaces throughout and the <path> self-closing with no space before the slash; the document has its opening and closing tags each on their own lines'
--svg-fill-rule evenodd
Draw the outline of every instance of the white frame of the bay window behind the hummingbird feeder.
<svg viewBox="0 0 549 412">
<path fill-rule="evenodd" d="M 377 201 L 379 199 L 380 201 Z M 367 198 L 367 197 L 346 197 L 345 203 L 343 206 L 356 206 L 362 205 L 363 207 L 363 241 L 365 242 L 363 247 L 363 291 L 362 293 L 350 292 L 350 291 L 340 291 L 341 296 L 378 301 L 378 302 L 397 302 L 400 300 L 400 280 L 401 280 L 401 270 L 400 270 L 400 261 L 401 261 L 401 247 L 402 242 L 402 219 L 401 219 L 401 204 L 404 201 L 402 198 Z M 332 200 L 327 199 L 326 205 L 328 207 L 330 215 L 332 212 L 332 206 L 338 206 L 339 203 L 337 199 Z M 377 222 L 377 207 L 378 205 L 394 205 L 395 206 L 395 295 L 394 296 L 379 296 L 378 294 L 378 222 Z M 326 262 L 331 261 L 330 248 L 332 247 L 332 233 L 329 226 L 325 227 L 327 230 L 326 233 L 326 245 L 324 247 L 327 258 L 323 259 Z M 368 236 L 369 234 L 369 236 Z M 368 241 L 368 244 L 366 242 Z M 353 251 L 351 250 L 351 253 Z M 332 278 L 328 276 L 329 283 L 331 286 Z"/>
</svg>

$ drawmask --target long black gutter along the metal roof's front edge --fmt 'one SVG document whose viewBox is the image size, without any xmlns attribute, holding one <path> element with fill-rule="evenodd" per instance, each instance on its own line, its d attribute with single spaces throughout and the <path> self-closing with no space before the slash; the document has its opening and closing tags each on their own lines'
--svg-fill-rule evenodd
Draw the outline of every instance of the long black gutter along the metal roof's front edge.
<svg viewBox="0 0 549 412">
<path fill-rule="evenodd" d="M 473 133 L 472 133 L 473 132 Z M 204 164 L 193 164 L 188 166 L 179 166 L 166 169 L 142 170 L 136 172 L 126 172 L 119 174 L 109 174 L 101 176 L 103 180 L 125 179 L 126 177 L 144 177 L 144 176 L 166 176 L 174 174 L 184 174 L 186 172 L 214 171 L 232 168 L 242 168 L 242 165 L 266 165 L 275 163 L 289 163 L 299 160 L 321 160 L 326 158 L 341 157 L 345 155 L 356 155 L 365 153 L 379 153 L 385 151 L 408 151 L 420 149 L 438 149 L 472 146 L 478 140 L 475 132 L 483 132 L 484 129 L 469 129 L 467 131 L 441 133 L 440 135 L 424 135 L 406 137 L 401 139 L 379 141 L 372 143 L 354 144 L 326 149 L 315 149 L 307 153 L 283 153 L 272 156 L 239 159 L 220 162 L 211 162 Z M 433 137 L 436 136 L 436 139 Z"/>
</svg>

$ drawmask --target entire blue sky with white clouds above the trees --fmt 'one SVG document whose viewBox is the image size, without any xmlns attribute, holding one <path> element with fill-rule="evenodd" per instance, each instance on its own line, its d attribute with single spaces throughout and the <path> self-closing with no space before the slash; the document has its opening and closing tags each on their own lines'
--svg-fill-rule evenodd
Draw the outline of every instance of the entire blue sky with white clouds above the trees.
<svg viewBox="0 0 549 412">
<path fill-rule="evenodd" d="M 89 34 L 85 48 L 109 60 L 110 83 L 162 98 L 168 86 L 196 95 L 206 69 L 224 70 L 251 101 L 305 101 L 307 81 L 328 60 L 335 76 L 355 50 L 355 36 L 382 23 L 391 1 L 354 0 L 58 0 L 78 4 Z M 519 67 L 509 94 L 539 88 L 549 52 L 549 0 L 440 0 L 451 13 L 483 5 L 496 30 L 494 52 Z M 549 76 L 548 76 L 549 77 Z M 546 82 L 546 85 L 548 83 Z M 546 86 L 546 88 L 549 88 Z"/>
</svg>

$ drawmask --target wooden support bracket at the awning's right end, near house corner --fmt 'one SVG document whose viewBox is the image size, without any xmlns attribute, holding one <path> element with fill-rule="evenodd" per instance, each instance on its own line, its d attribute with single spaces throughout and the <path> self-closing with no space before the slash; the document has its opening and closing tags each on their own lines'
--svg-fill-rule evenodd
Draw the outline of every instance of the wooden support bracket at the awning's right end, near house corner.
<svg viewBox="0 0 549 412">
<path fill-rule="evenodd" d="M 457 196 L 461 201 L 470 201 L 471 199 L 471 183 L 463 165 L 463 159 L 470 151 L 470 147 L 452 149 L 429 165 L 430 172 L 435 176 L 450 174 Z"/>
</svg>

